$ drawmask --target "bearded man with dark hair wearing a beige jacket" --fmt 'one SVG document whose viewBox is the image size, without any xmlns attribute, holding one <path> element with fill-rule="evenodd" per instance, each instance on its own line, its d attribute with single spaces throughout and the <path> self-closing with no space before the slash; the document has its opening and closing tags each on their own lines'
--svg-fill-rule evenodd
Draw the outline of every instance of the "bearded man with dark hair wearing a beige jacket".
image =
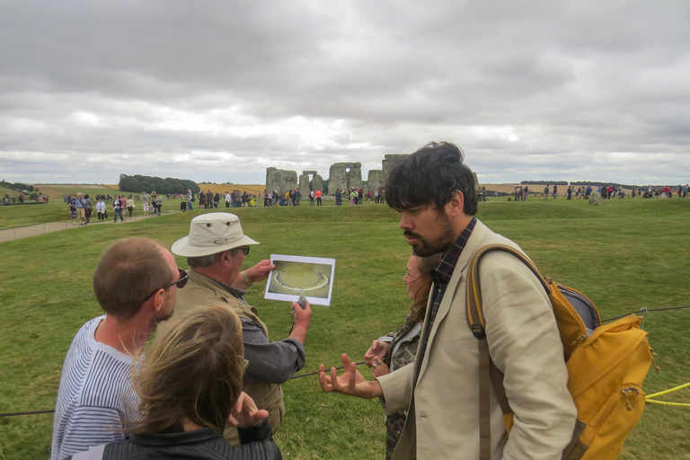
<svg viewBox="0 0 690 460">
<path fill-rule="evenodd" d="M 515 424 L 508 434 L 499 398 L 487 382 L 490 426 L 482 435 L 490 437 L 480 442 L 479 343 L 465 312 L 468 262 L 487 244 L 519 248 L 474 217 L 473 174 L 463 159 L 453 144 L 429 143 L 395 164 L 385 186 L 386 201 L 401 213 L 400 228 L 413 252 L 442 254 L 431 271 L 434 284 L 414 363 L 367 381 L 342 355 L 343 374 L 332 368 L 326 376 L 321 365 L 319 380 L 328 393 L 382 398 L 386 414 L 408 409 L 394 460 L 476 459 L 481 444 L 492 459 L 560 459 L 576 411 L 559 332 L 540 281 L 523 261 L 503 251 L 482 256 L 478 279 L 485 337 L 503 374 Z"/>
</svg>

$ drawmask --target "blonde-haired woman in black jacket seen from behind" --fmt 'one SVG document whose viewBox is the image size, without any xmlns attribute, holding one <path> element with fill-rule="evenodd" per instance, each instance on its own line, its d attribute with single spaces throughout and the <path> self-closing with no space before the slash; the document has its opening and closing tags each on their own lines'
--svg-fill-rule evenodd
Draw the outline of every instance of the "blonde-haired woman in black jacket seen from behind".
<svg viewBox="0 0 690 460">
<path fill-rule="evenodd" d="M 242 393 L 245 367 L 240 319 L 208 305 L 172 320 L 133 369 L 141 419 L 123 441 L 76 454 L 77 459 L 281 459 L 266 417 Z M 238 427 L 241 447 L 227 444 Z"/>
</svg>

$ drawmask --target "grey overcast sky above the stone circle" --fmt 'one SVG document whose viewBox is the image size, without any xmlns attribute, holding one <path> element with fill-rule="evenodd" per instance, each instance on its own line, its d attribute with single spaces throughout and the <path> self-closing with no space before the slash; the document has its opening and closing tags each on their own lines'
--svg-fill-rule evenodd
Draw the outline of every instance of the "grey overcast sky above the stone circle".
<svg viewBox="0 0 690 460">
<path fill-rule="evenodd" d="M 690 2 L 0 2 L 6 181 L 366 179 L 430 140 L 485 183 L 685 184 Z"/>
</svg>

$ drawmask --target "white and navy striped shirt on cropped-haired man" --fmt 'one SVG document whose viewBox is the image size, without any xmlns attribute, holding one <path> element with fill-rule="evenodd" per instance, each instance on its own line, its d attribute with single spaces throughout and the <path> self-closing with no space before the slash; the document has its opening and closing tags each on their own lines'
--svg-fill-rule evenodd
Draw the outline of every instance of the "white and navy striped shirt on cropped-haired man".
<svg viewBox="0 0 690 460">
<path fill-rule="evenodd" d="M 51 460 L 123 439 L 116 430 L 136 411 L 132 358 L 95 340 L 103 319 L 85 323 L 67 351 L 57 392 Z"/>
</svg>

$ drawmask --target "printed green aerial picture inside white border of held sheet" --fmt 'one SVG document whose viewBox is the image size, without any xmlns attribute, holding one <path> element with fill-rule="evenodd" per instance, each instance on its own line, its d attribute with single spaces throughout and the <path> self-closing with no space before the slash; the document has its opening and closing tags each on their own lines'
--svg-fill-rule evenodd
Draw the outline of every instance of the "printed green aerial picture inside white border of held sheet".
<svg viewBox="0 0 690 460">
<path fill-rule="evenodd" d="M 328 298 L 331 265 L 295 261 L 273 261 L 269 292 L 294 296 Z"/>
</svg>

